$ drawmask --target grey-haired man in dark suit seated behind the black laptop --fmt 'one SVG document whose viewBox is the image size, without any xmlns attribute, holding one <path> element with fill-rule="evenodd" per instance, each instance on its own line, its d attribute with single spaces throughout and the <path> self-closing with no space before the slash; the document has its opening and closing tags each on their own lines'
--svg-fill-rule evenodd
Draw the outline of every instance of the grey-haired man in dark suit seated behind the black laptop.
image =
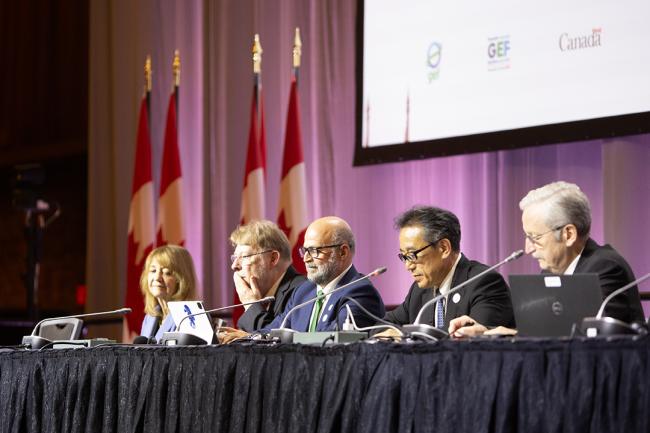
<svg viewBox="0 0 650 433">
<path fill-rule="evenodd" d="M 526 253 L 537 259 L 542 272 L 596 273 L 603 299 L 635 280 L 632 269 L 614 248 L 598 245 L 589 237 L 591 206 L 577 185 L 562 181 L 544 185 L 528 192 L 519 208 Z M 615 296 L 605 307 L 605 316 L 627 323 L 644 322 L 638 288 Z M 480 322 L 475 317 L 461 317 L 450 324 L 449 331 L 465 336 L 482 334 L 487 330 Z M 516 331 L 501 328 L 495 332 Z"/>
</svg>

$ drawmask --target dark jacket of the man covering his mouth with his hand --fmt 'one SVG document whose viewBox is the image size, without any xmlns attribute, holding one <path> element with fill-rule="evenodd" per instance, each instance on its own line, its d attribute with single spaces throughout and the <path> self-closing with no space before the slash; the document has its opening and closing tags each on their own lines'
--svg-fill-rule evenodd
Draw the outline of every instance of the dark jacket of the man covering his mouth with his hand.
<svg viewBox="0 0 650 433">
<path fill-rule="evenodd" d="M 237 326 L 246 332 L 264 328 L 275 319 L 275 316 L 284 311 L 293 291 L 306 280 L 307 277 L 299 274 L 293 266 L 289 265 L 275 292 L 275 301 L 269 305 L 268 310 L 261 304 L 251 305 L 239 318 Z"/>
</svg>

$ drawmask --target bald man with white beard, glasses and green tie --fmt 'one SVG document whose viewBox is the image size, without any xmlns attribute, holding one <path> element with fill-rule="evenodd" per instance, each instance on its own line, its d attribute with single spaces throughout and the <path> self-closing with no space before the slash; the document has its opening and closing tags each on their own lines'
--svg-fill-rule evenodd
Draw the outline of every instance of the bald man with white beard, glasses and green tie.
<svg viewBox="0 0 650 433">
<path fill-rule="evenodd" d="M 376 316 L 384 315 L 381 296 L 368 280 L 352 284 L 338 292 L 336 288 L 348 284 L 363 275 L 352 265 L 355 242 L 352 229 L 338 217 L 325 217 L 307 227 L 305 241 L 300 254 L 305 261 L 309 281 L 298 287 L 282 314 L 278 315 L 265 330 L 279 328 L 288 312 L 296 305 L 323 294 L 321 301 L 295 310 L 287 318 L 285 327 L 295 331 L 330 331 L 340 328 L 347 316 L 346 305 L 350 307 L 359 327 L 374 323 L 353 302 L 354 298 Z"/>
</svg>

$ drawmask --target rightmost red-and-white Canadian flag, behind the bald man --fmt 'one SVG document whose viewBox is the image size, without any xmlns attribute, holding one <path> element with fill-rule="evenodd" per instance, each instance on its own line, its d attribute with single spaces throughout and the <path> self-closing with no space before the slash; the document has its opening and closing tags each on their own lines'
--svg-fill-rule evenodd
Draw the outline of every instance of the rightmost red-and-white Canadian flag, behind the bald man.
<svg viewBox="0 0 650 433">
<path fill-rule="evenodd" d="M 305 240 L 307 219 L 307 187 L 305 160 L 302 154 L 300 133 L 300 109 L 298 105 L 298 83 L 294 76 L 289 94 L 287 130 L 284 138 L 282 178 L 280 180 L 280 205 L 278 226 L 284 230 L 292 248 L 293 266 L 305 273 L 305 263 L 298 254 Z"/>
</svg>

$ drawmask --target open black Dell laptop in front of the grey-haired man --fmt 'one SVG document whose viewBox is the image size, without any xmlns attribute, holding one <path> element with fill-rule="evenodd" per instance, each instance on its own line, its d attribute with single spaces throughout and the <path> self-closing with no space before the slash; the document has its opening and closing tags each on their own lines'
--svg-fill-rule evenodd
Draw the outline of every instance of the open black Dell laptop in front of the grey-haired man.
<svg viewBox="0 0 650 433">
<path fill-rule="evenodd" d="M 510 275 L 510 295 L 523 337 L 564 337 L 603 300 L 598 274 Z"/>
</svg>

